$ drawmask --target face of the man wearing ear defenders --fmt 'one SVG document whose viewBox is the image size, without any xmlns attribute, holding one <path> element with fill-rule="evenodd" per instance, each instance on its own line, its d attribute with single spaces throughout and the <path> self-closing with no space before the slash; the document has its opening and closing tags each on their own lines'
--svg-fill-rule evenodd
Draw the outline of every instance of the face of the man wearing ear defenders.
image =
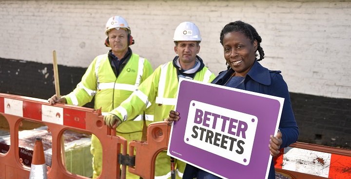
<svg viewBox="0 0 351 179">
<path fill-rule="evenodd" d="M 112 52 L 117 55 L 128 50 L 128 32 L 125 29 L 112 29 L 108 33 Z"/>
</svg>

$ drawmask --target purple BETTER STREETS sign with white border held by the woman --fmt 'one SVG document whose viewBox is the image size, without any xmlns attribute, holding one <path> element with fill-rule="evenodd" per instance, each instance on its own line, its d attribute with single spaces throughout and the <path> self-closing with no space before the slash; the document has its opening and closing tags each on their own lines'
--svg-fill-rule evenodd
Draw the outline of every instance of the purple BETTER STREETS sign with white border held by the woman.
<svg viewBox="0 0 351 179">
<path fill-rule="evenodd" d="M 167 154 L 221 178 L 267 179 L 284 98 L 179 80 Z"/>
</svg>

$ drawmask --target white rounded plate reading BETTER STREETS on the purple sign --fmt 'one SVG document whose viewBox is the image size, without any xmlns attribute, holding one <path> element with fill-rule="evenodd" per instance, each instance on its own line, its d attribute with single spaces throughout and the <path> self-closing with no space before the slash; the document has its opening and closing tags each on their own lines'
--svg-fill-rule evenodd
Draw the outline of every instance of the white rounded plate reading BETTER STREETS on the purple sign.
<svg viewBox="0 0 351 179">
<path fill-rule="evenodd" d="M 184 142 L 232 161 L 248 165 L 254 143 L 257 117 L 192 101 Z"/>
</svg>

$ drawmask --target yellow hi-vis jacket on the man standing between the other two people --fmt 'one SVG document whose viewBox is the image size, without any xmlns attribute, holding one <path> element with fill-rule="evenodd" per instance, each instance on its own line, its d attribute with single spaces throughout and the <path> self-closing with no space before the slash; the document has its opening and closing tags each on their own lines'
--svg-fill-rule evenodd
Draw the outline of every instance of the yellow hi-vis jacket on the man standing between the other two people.
<svg viewBox="0 0 351 179">
<path fill-rule="evenodd" d="M 210 83 L 215 78 L 207 67 L 196 72 L 194 80 Z M 176 93 L 178 90 L 177 69 L 172 61 L 159 66 L 133 94 L 119 107 L 112 110 L 111 114 L 122 119 L 122 124 L 131 120 L 139 111 L 151 107 L 154 116 L 146 115 L 146 123 L 163 121 L 168 118 L 169 111 L 174 110 L 176 105 Z M 148 108 L 149 109 L 149 108 Z"/>
</svg>

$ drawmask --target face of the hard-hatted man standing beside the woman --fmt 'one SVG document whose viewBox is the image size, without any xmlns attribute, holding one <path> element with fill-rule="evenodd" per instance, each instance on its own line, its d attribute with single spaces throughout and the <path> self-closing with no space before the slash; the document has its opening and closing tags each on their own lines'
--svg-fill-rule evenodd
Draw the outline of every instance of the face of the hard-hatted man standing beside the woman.
<svg viewBox="0 0 351 179">
<path fill-rule="evenodd" d="M 200 46 L 196 41 L 178 41 L 175 47 L 175 52 L 179 56 L 179 62 L 182 63 L 195 63 L 196 54 L 200 51 Z"/>
</svg>

